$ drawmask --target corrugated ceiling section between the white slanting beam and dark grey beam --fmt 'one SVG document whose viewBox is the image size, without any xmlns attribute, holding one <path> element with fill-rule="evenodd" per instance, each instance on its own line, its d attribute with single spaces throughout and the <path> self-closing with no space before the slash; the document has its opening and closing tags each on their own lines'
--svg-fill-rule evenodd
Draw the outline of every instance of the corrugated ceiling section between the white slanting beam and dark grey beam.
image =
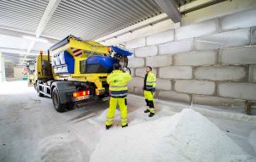
<svg viewBox="0 0 256 162">
<path fill-rule="evenodd" d="M 95 40 L 161 13 L 154 0 L 61 1 L 44 34 Z"/>
</svg>

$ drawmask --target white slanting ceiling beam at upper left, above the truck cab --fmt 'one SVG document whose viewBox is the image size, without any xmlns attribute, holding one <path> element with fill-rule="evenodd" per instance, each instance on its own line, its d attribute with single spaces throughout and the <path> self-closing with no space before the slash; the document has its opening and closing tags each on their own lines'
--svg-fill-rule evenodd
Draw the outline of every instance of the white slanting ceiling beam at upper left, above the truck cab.
<svg viewBox="0 0 256 162">
<path fill-rule="evenodd" d="M 49 3 L 44 10 L 44 14 L 38 24 L 38 28 L 35 33 L 36 37 L 39 37 L 42 34 L 45 26 L 47 25 L 47 22 L 49 21 L 51 16 L 54 14 L 55 9 L 58 7 L 59 3 L 61 3 L 61 0 L 49 0 Z M 30 53 L 35 43 L 36 43 L 35 41 L 30 42 L 29 46 L 27 47 L 27 53 Z"/>
</svg>

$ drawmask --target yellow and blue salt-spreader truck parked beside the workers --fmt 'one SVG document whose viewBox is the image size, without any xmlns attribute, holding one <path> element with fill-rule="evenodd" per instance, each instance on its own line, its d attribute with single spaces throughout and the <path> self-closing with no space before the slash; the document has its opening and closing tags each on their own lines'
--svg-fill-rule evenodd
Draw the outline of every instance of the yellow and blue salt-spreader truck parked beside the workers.
<svg viewBox="0 0 256 162">
<path fill-rule="evenodd" d="M 67 36 L 47 54 L 38 55 L 34 87 L 39 97 L 52 98 L 56 111 L 64 112 L 75 104 L 108 97 L 107 76 L 113 64 L 129 70 L 131 55 L 124 48 Z"/>
</svg>

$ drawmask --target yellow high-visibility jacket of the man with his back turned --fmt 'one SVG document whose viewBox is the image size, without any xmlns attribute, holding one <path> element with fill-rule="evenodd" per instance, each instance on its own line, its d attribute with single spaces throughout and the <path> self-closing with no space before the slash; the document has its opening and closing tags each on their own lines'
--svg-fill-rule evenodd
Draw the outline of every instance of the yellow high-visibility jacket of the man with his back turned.
<svg viewBox="0 0 256 162">
<path fill-rule="evenodd" d="M 131 75 L 121 70 L 113 70 L 107 78 L 110 96 L 113 98 L 125 98 L 128 92 L 128 81 L 131 81 Z"/>
</svg>

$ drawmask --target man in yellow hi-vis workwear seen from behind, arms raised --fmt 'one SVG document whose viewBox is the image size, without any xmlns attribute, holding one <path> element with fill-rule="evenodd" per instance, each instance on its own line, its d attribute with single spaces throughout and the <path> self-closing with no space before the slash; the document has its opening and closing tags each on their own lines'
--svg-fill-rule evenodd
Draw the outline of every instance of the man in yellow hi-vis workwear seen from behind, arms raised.
<svg viewBox="0 0 256 162">
<path fill-rule="evenodd" d="M 106 119 L 107 130 L 113 125 L 117 104 L 119 104 L 119 109 L 121 112 L 121 125 L 122 127 L 128 126 L 126 101 L 128 81 L 131 81 L 131 75 L 120 70 L 120 64 L 113 64 L 113 72 L 108 75 L 107 78 L 110 94 L 109 109 Z"/>
</svg>

